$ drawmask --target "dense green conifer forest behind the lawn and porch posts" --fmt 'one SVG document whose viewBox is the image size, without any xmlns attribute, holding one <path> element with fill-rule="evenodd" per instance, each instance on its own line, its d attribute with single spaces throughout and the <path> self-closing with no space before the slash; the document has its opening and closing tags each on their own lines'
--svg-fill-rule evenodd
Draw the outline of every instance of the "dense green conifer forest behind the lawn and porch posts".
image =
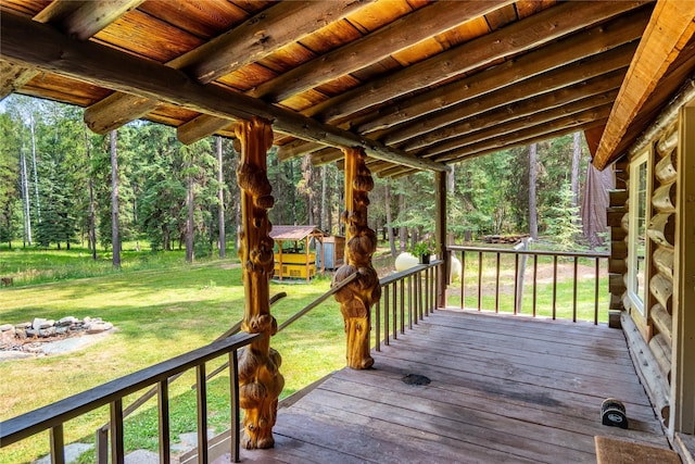
<svg viewBox="0 0 695 464">
<path fill-rule="evenodd" d="M 192 261 L 236 242 L 233 140 L 210 137 L 184 146 L 174 128 L 143 121 L 98 136 L 81 113 L 24 96 L 2 102 L 0 243 L 80 243 L 97 258 L 113 249 L 115 238 L 156 251 L 186 249 Z M 578 133 L 452 165 L 450 242 L 529 234 L 565 250 L 586 247 L 579 215 L 586 153 Z M 343 176 L 336 164 L 314 166 L 308 156 L 280 162 L 274 148 L 268 177 L 273 224 L 341 234 Z M 375 176 L 375 184 L 370 226 L 392 253 L 433 231 L 432 173 Z"/>
</svg>

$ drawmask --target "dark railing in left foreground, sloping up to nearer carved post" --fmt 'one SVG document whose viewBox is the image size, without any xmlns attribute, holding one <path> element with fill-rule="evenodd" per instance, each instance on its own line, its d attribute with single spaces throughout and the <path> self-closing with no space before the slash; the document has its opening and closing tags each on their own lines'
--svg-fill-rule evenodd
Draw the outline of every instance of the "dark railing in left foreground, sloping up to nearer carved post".
<svg viewBox="0 0 695 464">
<path fill-rule="evenodd" d="M 251 343 L 261 335 L 237 334 L 213 343 L 181 354 L 154 366 L 126 375 L 100 385 L 64 400 L 30 411 L 0 423 L 0 448 L 24 440 L 40 431 L 50 429 L 51 462 L 62 464 L 64 457 L 63 424 L 86 414 L 97 407 L 110 405 L 111 409 L 111 460 L 123 463 L 124 451 L 124 409 L 123 399 L 142 388 L 156 386 L 159 405 L 160 461 L 169 462 L 169 379 L 185 371 L 195 369 L 198 389 L 198 442 L 200 461 L 207 462 L 207 399 L 205 385 L 205 363 L 224 354 L 229 355 L 231 430 L 233 430 L 231 455 L 235 462 L 239 456 L 239 383 L 237 374 L 237 350 Z"/>
</svg>

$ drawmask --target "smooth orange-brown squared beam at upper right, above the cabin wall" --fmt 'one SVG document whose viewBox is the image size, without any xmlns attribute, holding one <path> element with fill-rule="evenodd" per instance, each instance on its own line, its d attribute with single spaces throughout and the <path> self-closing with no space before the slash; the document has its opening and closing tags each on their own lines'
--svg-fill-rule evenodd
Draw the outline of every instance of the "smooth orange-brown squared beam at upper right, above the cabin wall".
<svg viewBox="0 0 695 464">
<path fill-rule="evenodd" d="M 599 170 L 615 160 L 616 147 L 652 92 L 695 34 L 695 2 L 658 1 L 649 25 L 603 133 L 594 164 Z"/>
</svg>

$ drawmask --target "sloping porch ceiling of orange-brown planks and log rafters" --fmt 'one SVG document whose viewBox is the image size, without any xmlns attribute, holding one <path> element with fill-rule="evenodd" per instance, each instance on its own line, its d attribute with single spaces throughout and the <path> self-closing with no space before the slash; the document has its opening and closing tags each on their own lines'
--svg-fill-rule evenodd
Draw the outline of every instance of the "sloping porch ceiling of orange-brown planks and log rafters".
<svg viewBox="0 0 695 464">
<path fill-rule="evenodd" d="M 321 164 L 362 146 L 372 172 L 400 176 L 577 130 L 599 137 L 631 95 L 621 86 L 655 3 L 0 0 L 0 97 L 85 106 L 100 134 L 136 118 L 173 125 L 184 143 L 231 137 L 258 115 L 281 159 Z M 659 85 L 602 140 L 606 163 L 695 70 L 681 29 Z"/>
</svg>

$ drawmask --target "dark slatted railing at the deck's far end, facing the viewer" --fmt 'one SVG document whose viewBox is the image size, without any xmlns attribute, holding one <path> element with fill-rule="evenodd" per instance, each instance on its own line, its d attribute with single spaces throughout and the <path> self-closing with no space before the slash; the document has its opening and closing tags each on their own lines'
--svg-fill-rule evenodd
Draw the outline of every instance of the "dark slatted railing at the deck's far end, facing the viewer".
<svg viewBox="0 0 695 464">
<path fill-rule="evenodd" d="M 578 286 L 580 280 L 586 280 L 586 277 L 581 277 L 579 274 L 579 264 L 580 260 L 587 260 L 593 264 L 593 276 L 590 277 L 593 279 L 593 322 L 594 324 L 598 324 L 599 319 L 599 281 L 601 281 L 601 262 L 608 260 L 607 253 L 596 253 L 596 252 L 571 252 L 571 251 L 551 251 L 551 250 L 519 250 L 519 249 L 508 249 L 508 248 L 481 248 L 481 247 L 464 247 L 464 246 L 450 246 L 447 249 L 452 252 L 452 255 L 457 255 L 460 259 L 462 263 L 462 272 L 460 272 L 460 304 L 459 308 L 466 308 L 466 275 L 467 264 L 470 264 L 470 259 L 472 256 L 472 266 L 477 272 L 477 286 L 476 286 L 476 297 L 477 297 L 477 310 L 490 310 L 495 313 L 501 311 L 501 275 L 503 272 L 501 271 L 501 263 L 503 255 L 513 255 L 514 256 L 514 274 L 511 276 L 513 279 L 513 313 L 519 314 L 521 313 L 522 308 L 522 296 L 525 288 L 525 274 L 526 274 L 526 262 L 528 259 L 532 260 L 532 271 L 531 271 L 531 291 L 532 291 L 532 303 L 531 303 L 531 315 L 539 315 L 539 262 L 541 258 L 552 259 L 552 263 L 547 262 L 543 265 L 552 266 L 552 298 L 549 304 L 549 316 L 555 319 L 558 318 L 558 262 L 560 260 L 567 260 L 572 263 L 572 296 L 571 296 L 571 319 L 573 322 L 578 321 Z M 484 287 L 484 278 L 483 278 L 483 267 L 485 258 L 492 256 L 493 266 L 494 266 L 494 305 L 491 303 L 483 304 L 483 287 Z M 489 260 L 488 260 L 489 262 Z M 490 263 L 489 263 L 490 265 Z M 565 301 L 561 301 L 564 304 Z M 569 304 L 569 301 L 567 301 Z M 607 309 L 606 309 L 607 311 Z"/>
</svg>

